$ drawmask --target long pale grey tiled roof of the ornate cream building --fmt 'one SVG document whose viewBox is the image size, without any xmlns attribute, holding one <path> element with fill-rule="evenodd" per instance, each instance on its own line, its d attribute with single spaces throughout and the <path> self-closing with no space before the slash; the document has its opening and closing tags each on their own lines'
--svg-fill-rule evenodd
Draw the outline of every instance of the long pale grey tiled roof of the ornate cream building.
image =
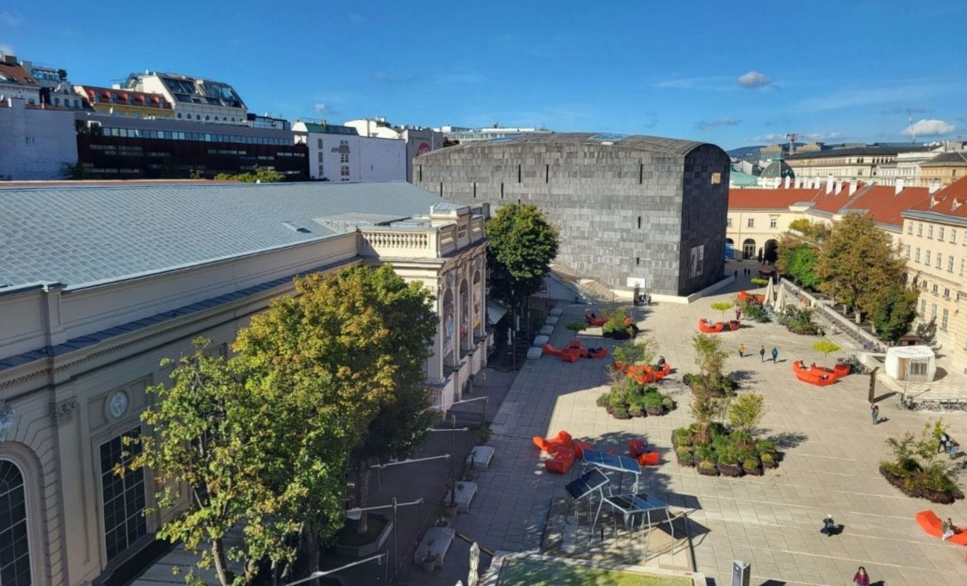
<svg viewBox="0 0 967 586">
<path fill-rule="evenodd" d="M 400 220 L 441 201 L 405 182 L 0 187 L 0 285 L 158 273 L 329 238 L 346 215 Z"/>
</svg>

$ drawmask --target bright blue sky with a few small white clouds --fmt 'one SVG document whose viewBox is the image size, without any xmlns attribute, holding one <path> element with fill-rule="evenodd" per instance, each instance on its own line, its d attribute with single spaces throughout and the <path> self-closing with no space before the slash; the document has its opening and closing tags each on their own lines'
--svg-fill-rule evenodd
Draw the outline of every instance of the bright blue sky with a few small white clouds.
<svg viewBox="0 0 967 586">
<path fill-rule="evenodd" d="M 0 0 L 0 48 L 110 84 L 232 83 L 252 111 L 762 143 L 967 134 L 963 0 Z"/>
</svg>

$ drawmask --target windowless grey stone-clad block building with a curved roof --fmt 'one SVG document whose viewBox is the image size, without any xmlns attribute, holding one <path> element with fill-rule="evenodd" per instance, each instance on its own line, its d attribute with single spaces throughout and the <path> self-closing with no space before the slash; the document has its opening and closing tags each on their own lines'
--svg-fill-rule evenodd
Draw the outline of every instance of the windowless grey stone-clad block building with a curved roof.
<svg viewBox="0 0 967 586">
<path fill-rule="evenodd" d="M 533 203 L 560 229 L 559 264 L 616 291 L 679 297 L 723 278 L 729 165 L 713 144 L 556 132 L 425 153 L 413 179 L 494 211 Z"/>
</svg>

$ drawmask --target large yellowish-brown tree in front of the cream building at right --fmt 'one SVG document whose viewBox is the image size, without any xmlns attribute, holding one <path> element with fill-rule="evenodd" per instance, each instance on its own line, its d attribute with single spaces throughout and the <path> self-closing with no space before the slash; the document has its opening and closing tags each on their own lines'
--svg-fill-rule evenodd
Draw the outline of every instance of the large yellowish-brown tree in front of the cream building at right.
<svg viewBox="0 0 967 586">
<path fill-rule="evenodd" d="M 847 214 L 823 243 L 816 264 L 819 289 L 836 303 L 871 313 L 879 292 L 902 282 L 905 264 L 890 236 L 873 220 Z"/>
</svg>

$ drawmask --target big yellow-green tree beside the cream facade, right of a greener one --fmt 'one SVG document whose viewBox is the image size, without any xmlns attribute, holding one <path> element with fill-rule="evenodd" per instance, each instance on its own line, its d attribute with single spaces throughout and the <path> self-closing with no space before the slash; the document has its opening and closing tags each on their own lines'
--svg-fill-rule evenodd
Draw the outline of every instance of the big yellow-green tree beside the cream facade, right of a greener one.
<svg viewBox="0 0 967 586">
<path fill-rule="evenodd" d="M 309 414 L 297 426 L 304 429 L 297 440 L 302 453 L 279 479 L 285 490 L 327 499 L 325 508 L 293 512 L 304 521 L 302 542 L 314 571 L 318 543 L 341 526 L 346 489 L 344 463 L 316 452 L 352 455 L 356 505 L 365 508 L 369 466 L 412 454 L 432 419 L 423 381 L 438 318 L 425 288 L 406 283 L 389 265 L 311 274 L 295 284 L 297 295 L 253 317 L 233 347 L 249 388 Z M 317 470 L 339 482 L 317 488 Z M 367 513 L 357 530 L 366 533 Z"/>
</svg>

